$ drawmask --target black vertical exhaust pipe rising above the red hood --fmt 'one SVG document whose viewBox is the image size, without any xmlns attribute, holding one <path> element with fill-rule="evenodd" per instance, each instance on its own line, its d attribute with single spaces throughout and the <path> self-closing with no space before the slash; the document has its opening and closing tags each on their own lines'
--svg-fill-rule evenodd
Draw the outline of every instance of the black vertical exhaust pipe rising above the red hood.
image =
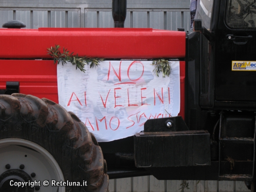
<svg viewBox="0 0 256 192">
<path fill-rule="evenodd" d="M 127 0 L 112 0 L 112 16 L 115 28 L 124 28 Z"/>
</svg>

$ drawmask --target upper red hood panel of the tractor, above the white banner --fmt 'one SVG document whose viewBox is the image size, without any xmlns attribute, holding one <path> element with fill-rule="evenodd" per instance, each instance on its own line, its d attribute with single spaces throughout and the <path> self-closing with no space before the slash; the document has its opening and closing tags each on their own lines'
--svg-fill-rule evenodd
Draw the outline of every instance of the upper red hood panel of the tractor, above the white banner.
<svg viewBox="0 0 256 192">
<path fill-rule="evenodd" d="M 50 58 L 55 44 L 89 57 L 185 57 L 185 32 L 152 28 L 0 29 L 0 42 L 0 58 Z"/>
</svg>

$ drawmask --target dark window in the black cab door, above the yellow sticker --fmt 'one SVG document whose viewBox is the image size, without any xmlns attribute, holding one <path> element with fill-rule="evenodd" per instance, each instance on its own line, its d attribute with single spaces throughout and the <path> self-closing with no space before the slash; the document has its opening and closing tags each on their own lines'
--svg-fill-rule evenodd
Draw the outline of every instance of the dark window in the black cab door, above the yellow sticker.
<svg viewBox="0 0 256 192">
<path fill-rule="evenodd" d="M 229 0 L 226 23 L 231 28 L 255 28 L 256 1 Z"/>
</svg>

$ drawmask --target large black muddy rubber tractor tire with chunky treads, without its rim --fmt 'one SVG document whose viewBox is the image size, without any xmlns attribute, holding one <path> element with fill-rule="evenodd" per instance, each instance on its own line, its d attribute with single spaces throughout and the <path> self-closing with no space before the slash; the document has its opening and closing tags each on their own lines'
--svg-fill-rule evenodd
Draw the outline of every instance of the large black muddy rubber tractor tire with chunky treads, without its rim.
<svg viewBox="0 0 256 192">
<path fill-rule="evenodd" d="M 87 186 L 66 186 L 66 192 L 108 192 L 107 164 L 94 135 L 59 104 L 18 93 L 0 95 L 0 141 L 11 138 L 46 149 L 65 181 L 87 181 Z"/>
</svg>

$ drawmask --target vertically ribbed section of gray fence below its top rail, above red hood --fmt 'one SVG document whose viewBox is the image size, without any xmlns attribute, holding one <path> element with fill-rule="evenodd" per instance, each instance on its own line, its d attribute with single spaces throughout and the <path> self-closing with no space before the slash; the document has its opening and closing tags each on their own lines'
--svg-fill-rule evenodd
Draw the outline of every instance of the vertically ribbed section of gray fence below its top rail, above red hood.
<svg viewBox="0 0 256 192">
<path fill-rule="evenodd" d="M 112 28 L 114 21 L 111 9 L 85 9 L 84 17 L 81 10 L 52 8 L 0 8 L 0 26 L 10 20 L 20 20 L 26 24 L 26 28 L 39 27 L 69 27 L 79 28 Z M 84 18 L 81 21 L 81 18 Z M 124 27 L 126 28 L 157 28 L 177 30 L 177 28 L 189 29 L 190 13 L 187 9 L 128 9 Z"/>
</svg>

